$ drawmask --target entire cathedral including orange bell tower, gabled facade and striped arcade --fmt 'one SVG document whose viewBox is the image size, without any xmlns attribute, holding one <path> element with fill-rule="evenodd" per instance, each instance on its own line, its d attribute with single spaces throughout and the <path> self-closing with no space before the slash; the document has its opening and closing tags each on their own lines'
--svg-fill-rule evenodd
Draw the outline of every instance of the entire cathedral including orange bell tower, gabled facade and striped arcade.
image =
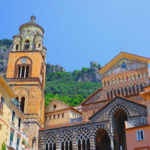
<svg viewBox="0 0 150 150">
<path fill-rule="evenodd" d="M 44 30 L 32 16 L 19 31 L 13 37 L 6 77 L 25 115 L 28 149 L 130 150 L 128 131 L 148 126 L 150 113 L 141 93 L 149 83 L 150 58 L 121 52 L 100 69 L 102 88 L 79 107 L 54 100 L 45 110 Z M 137 137 L 144 139 L 141 130 Z"/>
</svg>

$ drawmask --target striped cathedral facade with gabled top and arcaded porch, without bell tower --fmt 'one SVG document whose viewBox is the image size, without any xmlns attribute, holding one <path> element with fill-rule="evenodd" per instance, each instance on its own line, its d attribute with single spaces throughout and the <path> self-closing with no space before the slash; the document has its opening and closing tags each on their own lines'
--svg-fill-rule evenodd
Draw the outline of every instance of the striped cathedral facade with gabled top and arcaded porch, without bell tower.
<svg viewBox="0 0 150 150">
<path fill-rule="evenodd" d="M 141 93 L 149 81 L 149 62 L 125 52 L 117 55 L 99 71 L 102 88 L 82 102 L 82 120 L 41 129 L 39 149 L 131 150 L 127 130 L 148 124 Z M 136 141 L 136 131 L 133 135 Z"/>
</svg>

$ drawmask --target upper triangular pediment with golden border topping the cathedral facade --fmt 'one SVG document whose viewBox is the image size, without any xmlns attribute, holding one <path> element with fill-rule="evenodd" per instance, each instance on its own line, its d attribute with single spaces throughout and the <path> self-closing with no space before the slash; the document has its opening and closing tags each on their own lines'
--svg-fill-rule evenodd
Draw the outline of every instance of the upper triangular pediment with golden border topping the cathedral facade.
<svg viewBox="0 0 150 150">
<path fill-rule="evenodd" d="M 100 69 L 99 72 L 101 75 L 107 72 L 108 74 L 114 72 L 121 73 L 121 71 L 123 71 L 121 70 L 121 65 L 123 62 L 127 64 L 127 70 L 131 71 L 145 67 L 144 65 L 150 63 L 150 58 L 121 52 L 114 59 L 108 62 L 102 69 Z"/>
</svg>

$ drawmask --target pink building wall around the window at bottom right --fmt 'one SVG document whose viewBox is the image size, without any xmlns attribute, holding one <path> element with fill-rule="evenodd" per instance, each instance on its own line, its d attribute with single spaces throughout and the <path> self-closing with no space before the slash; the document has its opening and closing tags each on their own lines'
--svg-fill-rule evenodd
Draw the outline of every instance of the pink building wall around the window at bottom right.
<svg viewBox="0 0 150 150">
<path fill-rule="evenodd" d="M 144 130 L 144 140 L 136 140 L 136 131 Z M 128 150 L 149 150 L 150 149 L 150 126 L 138 127 L 126 130 L 126 141 Z M 146 149 L 147 148 L 147 149 Z"/>
</svg>

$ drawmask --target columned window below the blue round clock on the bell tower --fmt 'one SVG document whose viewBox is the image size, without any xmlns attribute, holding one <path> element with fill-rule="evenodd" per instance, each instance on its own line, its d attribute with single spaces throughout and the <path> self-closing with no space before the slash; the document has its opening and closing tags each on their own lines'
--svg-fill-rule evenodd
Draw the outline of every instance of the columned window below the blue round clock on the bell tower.
<svg viewBox="0 0 150 150">
<path fill-rule="evenodd" d="M 29 77 L 29 66 L 23 65 L 18 66 L 18 78 L 28 78 Z"/>
</svg>

